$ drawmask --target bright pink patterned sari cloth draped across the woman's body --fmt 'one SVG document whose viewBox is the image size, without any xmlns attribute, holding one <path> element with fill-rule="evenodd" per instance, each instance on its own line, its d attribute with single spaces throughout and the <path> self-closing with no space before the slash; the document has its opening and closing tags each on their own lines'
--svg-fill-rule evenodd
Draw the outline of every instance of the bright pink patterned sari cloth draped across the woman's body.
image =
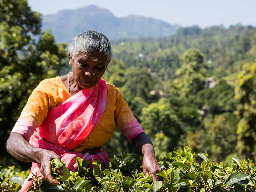
<svg viewBox="0 0 256 192">
<path fill-rule="evenodd" d="M 99 123 L 106 106 L 107 85 L 103 79 L 89 89 L 82 89 L 60 105 L 49 110 L 44 122 L 35 129 L 29 143 L 37 148 L 54 151 L 66 167 L 73 171 L 77 168 L 76 157 L 82 161 L 99 159 L 109 164 L 108 155 L 100 149 L 95 155 L 82 154 L 72 149 L 80 145 Z M 32 163 L 31 173 L 42 175 L 40 164 Z M 22 192 L 28 190 L 31 181 L 25 181 Z"/>
</svg>

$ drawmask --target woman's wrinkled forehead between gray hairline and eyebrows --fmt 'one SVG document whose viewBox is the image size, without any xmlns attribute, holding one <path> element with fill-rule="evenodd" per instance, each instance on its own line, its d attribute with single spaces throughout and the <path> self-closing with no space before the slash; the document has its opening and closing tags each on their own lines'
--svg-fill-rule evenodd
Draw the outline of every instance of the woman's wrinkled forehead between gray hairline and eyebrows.
<svg viewBox="0 0 256 192">
<path fill-rule="evenodd" d="M 99 52 L 92 52 L 92 51 L 87 51 L 87 52 L 80 52 L 76 58 L 76 60 L 88 60 L 88 61 L 96 61 L 100 63 L 107 63 L 108 58 L 105 55 L 102 55 Z"/>
</svg>

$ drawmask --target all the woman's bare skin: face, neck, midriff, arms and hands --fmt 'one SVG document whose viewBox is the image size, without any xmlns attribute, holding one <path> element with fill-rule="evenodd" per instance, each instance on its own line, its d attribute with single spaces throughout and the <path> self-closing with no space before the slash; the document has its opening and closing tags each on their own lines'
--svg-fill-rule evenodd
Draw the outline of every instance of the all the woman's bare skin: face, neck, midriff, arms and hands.
<svg viewBox="0 0 256 192">
<path fill-rule="evenodd" d="M 85 52 L 78 54 L 75 58 L 69 55 L 69 62 L 72 64 L 72 71 L 70 73 L 70 94 L 74 95 L 83 88 L 91 88 L 98 83 L 103 76 L 107 66 L 108 59 L 97 52 Z M 61 76 L 63 84 L 68 89 L 68 75 Z M 156 173 L 161 172 L 154 147 L 151 140 L 145 133 L 141 133 L 132 140 L 133 144 L 144 155 L 143 157 L 143 173 L 145 176 L 151 174 L 153 179 L 159 180 Z M 36 148 L 32 146 L 20 133 L 12 133 L 7 140 L 7 151 L 16 159 L 20 161 L 35 162 L 41 164 L 40 172 L 44 175 L 52 185 L 58 185 L 59 181 L 53 178 L 51 172 L 52 159 L 58 158 L 53 151 Z M 82 153 L 89 152 L 96 154 L 100 148 L 84 149 Z M 58 170 L 63 174 L 63 169 Z"/>
</svg>

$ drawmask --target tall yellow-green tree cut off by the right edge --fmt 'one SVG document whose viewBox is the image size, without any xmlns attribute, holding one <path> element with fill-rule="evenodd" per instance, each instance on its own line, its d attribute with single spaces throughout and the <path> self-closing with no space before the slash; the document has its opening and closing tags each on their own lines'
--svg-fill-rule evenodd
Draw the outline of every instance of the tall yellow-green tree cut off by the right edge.
<svg viewBox="0 0 256 192">
<path fill-rule="evenodd" d="M 237 145 L 239 155 L 255 158 L 256 152 L 256 63 L 243 65 L 238 76 L 235 98 L 238 100 Z"/>
</svg>

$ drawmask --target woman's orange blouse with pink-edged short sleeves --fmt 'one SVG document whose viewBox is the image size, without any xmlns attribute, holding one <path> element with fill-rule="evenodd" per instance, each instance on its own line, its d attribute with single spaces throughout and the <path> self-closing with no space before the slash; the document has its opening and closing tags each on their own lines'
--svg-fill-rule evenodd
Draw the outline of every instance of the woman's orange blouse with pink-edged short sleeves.
<svg viewBox="0 0 256 192">
<path fill-rule="evenodd" d="M 18 132 L 29 140 L 36 127 L 44 121 L 48 111 L 69 97 L 71 95 L 59 76 L 41 81 L 28 98 L 12 132 Z M 114 85 L 107 83 L 107 102 L 103 116 L 96 128 L 74 150 L 81 152 L 85 148 L 102 147 L 113 136 L 115 125 L 129 140 L 144 132 L 123 94 Z"/>
</svg>

